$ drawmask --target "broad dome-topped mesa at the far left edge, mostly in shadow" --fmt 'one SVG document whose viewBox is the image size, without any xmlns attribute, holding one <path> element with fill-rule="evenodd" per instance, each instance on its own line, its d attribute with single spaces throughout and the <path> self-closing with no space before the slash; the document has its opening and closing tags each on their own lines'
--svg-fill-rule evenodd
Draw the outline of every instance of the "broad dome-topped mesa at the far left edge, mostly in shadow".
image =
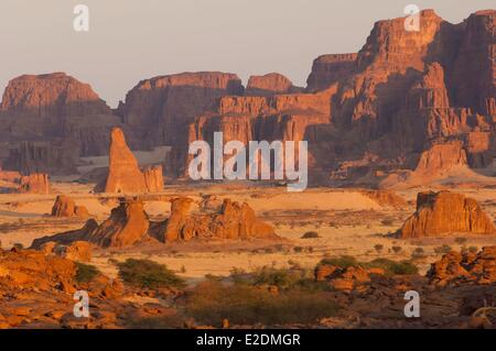
<svg viewBox="0 0 496 351">
<path fill-rule="evenodd" d="M 75 173 L 78 156 L 105 154 L 120 123 L 91 87 L 64 74 L 12 79 L 0 105 L 4 166 L 21 172 Z"/>
</svg>

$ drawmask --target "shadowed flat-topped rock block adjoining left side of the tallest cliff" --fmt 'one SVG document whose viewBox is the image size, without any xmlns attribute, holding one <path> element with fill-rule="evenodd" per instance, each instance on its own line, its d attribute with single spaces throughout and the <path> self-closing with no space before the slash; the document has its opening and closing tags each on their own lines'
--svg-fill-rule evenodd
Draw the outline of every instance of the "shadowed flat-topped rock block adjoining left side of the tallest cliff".
<svg viewBox="0 0 496 351">
<path fill-rule="evenodd" d="M 306 79 L 306 90 L 319 91 L 351 76 L 356 67 L 356 54 L 331 54 L 315 58 Z"/>
</svg>

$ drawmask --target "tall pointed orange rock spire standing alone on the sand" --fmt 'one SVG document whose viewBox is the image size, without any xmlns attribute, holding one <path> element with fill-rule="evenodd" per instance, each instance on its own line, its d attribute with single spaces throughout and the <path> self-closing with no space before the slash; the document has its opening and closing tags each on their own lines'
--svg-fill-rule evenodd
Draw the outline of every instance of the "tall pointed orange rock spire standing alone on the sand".
<svg viewBox="0 0 496 351">
<path fill-rule="evenodd" d="M 143 174 L 126 143 L 122 130 L 119 128 L 112 129 L 105 193 L 153 193 L 162 189 L 162 167 L 149 167 Z"/>
</svg>

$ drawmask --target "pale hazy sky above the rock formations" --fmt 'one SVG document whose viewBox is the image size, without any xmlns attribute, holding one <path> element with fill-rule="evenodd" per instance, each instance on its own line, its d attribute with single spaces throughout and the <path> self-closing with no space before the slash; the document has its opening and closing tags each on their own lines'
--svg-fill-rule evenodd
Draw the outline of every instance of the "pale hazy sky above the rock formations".
<svg viewBox="0 0 496 351">
<path fill-rule="evenodd" d="M 89 32 L 73 9 L 89 7 Z M 312 61 L 356 52 L 405 6 L 457 23 L 494 0 L 0 0 L 0 89 L 22 74 L 66 72 L 110 106 L 139 80 L 180 72 L 279 72 L 304 86 Z"/>
</svg>

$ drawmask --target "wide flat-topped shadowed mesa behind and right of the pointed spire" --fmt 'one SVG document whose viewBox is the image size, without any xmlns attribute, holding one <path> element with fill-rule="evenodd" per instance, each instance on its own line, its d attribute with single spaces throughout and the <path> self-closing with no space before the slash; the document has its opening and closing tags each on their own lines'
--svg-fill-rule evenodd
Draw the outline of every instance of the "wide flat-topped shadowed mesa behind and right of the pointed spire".
<svg viewBox="0 0 496 351">
<path fill-rule="evenodd" d="M 139 140 L 175 145 L 185 125 L 211 108 L 216 98 L 242 94 L 241 80 L 218 72 L 183 73 L 140 81 L 126 96 L 118 113 Z"/>
</svg>

